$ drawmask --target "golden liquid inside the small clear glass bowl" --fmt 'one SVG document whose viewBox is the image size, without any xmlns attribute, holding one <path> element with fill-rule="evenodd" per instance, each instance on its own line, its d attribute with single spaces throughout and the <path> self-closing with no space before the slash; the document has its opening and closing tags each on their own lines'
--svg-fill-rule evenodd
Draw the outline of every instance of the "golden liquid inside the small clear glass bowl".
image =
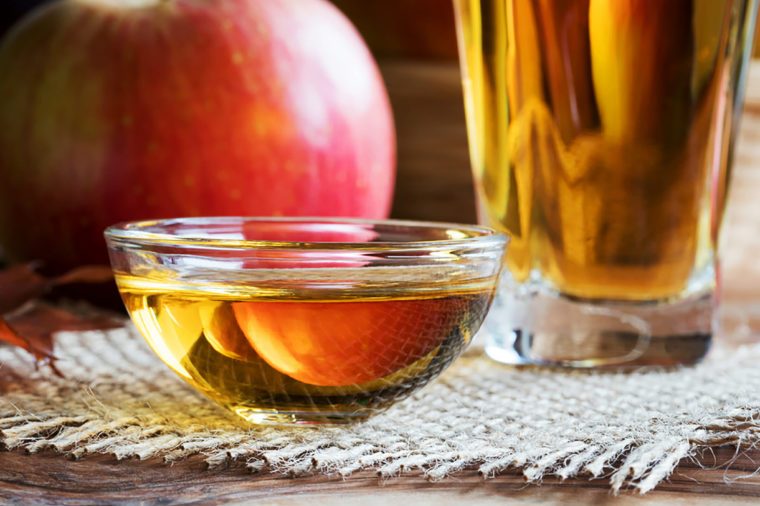
<svg viewBox="0 0 760 506">
<path fill-rule="evenodd" d="M 150 275 L 117 282 L 161 359 L 251 421 L 277 413 L 345 421 L 387 407 L 459 355 L 493 291 L 493 280 L 332 294 L 233 285 L 225 293 L 224 285 L 193 287 Z"/>
</svg>

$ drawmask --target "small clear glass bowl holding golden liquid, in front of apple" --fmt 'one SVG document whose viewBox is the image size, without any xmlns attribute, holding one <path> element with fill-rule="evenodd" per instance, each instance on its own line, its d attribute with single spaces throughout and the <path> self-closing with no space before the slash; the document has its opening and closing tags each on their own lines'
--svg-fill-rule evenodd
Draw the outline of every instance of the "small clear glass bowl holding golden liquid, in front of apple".
<svg viewBox="0 0 760 506">
<path fill-rule="evenodd" d="M 259 424 L 365 419 L 436 377 L 490 307 L 490 229 L 323 218 L 115 225 L 127 310 L 183 380 Z"/>
</svg>

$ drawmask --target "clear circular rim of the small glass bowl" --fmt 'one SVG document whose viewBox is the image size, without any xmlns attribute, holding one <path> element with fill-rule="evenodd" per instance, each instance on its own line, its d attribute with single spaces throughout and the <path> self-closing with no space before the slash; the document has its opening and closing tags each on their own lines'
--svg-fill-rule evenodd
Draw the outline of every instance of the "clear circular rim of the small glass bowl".
<svg viewBox="0 0 760 506">
<path fill-rule="evenodd" d="M 360 225 L 368 227 L 403 227 L 405 229 L 423 230 L 456 230 L 468 234 L 461 238 L 426 239 L 410 241 L 377 241 L 377 242 L 300 242 L 300 241 L 270 241 L 250 239 L 215 238 L 213 234 L 197 236 L 181 236 L 164 232 L 149 232 L 148 228 L 168 225 L 225 225 L 231 223 L 270 223 L 275 225 L 297 224 L 327 224 L 327 225 Z M 362 218 L 322 218 L 322 217 L 244 217 L 244 216 L 214 216 L 193 218 L 167 218 L 158 220 L 141 220 L 117 223 L 108 227 L 104 235 L 109 242 L 151 247 L 194 247 L 204 250 L 437 250 L 449 248 L 465 249 L 500 249 L 509 241 L 506 234 L 480 225 L 466 225 L 448 222 L 416 221 L 416 220 L 370 220 Z"/>
</svg>

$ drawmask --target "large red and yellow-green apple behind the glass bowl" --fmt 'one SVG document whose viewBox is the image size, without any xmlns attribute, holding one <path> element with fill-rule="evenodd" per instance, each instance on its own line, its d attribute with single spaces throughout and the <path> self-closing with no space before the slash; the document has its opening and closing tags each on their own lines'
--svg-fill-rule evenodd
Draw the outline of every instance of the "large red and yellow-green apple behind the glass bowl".
<svg viewBox="0 0 760 506">
<path fill-rule="evenodd" d="M 0 43 L 0 245 L 50 270 L 178 216 L 388 216 L 395 130 L 325 0 L 62 0 Z"/>
</svg>

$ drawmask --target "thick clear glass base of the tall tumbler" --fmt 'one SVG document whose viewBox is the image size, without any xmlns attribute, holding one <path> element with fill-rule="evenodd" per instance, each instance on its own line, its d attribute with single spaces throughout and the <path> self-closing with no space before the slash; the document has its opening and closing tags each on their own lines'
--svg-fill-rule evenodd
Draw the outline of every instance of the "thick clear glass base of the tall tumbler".
<svg viewBox="0 0 760 506">
<path fill-rule="evenodd" d="M 712 291 L 652 302 L 502 291 L 485 323 L 485 351 L 514 365 L 694 364 L 710 349 L 714 308 Z"/>
</svg>

